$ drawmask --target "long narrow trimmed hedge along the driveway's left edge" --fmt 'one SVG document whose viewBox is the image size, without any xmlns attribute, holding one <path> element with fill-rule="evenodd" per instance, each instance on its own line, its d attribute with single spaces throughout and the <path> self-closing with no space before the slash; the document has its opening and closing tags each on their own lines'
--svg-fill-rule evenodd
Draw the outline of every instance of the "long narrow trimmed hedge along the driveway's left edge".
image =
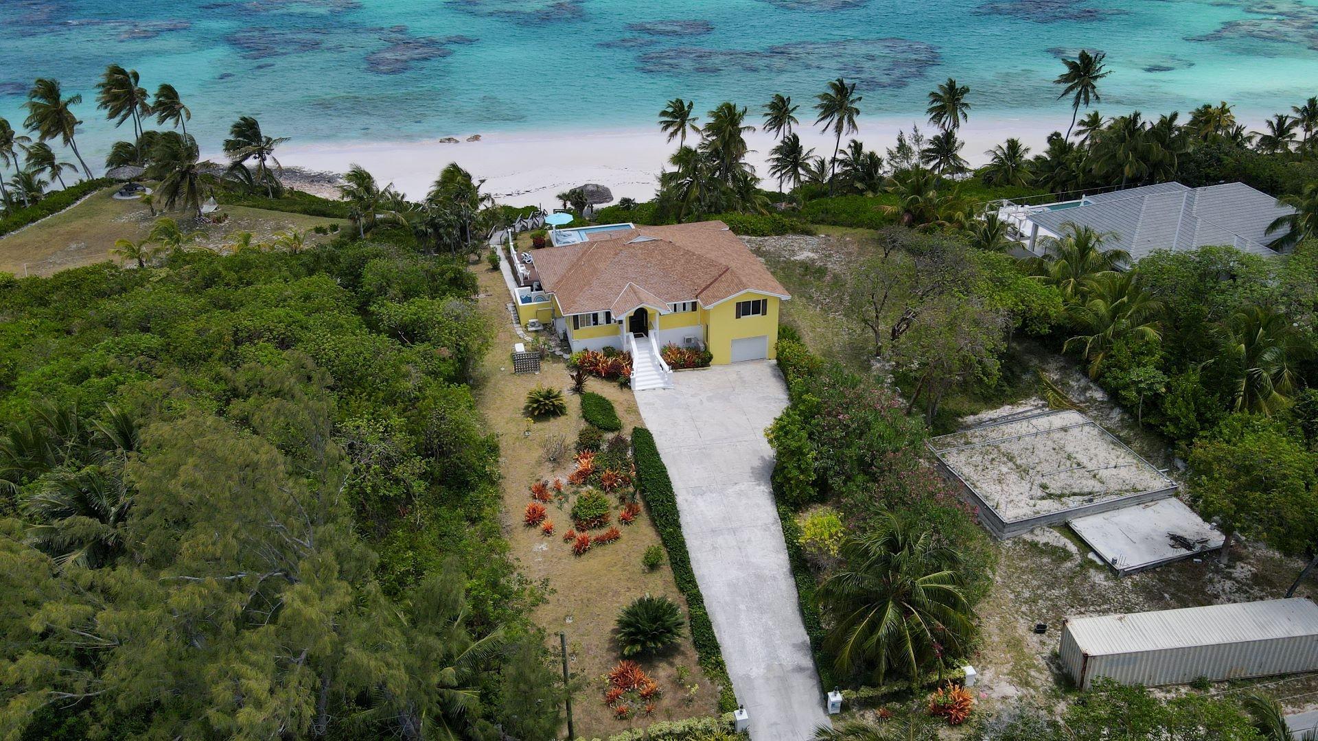
<svg viewBox="0 0 1318 741">
<path fill-rule="evenodd" d="M 731 712 L 737 709 L 737 694 L 733 692 L 733 682 L 728 678 L 728 665 L 724 663 L 714 626 L 709 622 L 705 597 L 700 593 L 696 574 L 691 570 L 691 554 L 687 551 L 687 538 L 681 534 L 681 521 L 677 516 L 677 496 L 672 490 L 668 468 L 659 458 L 659 448 L 650 430 L 631 429 L 631 456 L 637 461 L 637 490 L 650 509 L 650 521 L 659 530 L 659 539 L 668 551 L 673 581 L 687 597 L 691 641 L 696 645 L 700 668 L 710 682 L 717 682 L 720 686 L 718 711 Z"/>
</svg>

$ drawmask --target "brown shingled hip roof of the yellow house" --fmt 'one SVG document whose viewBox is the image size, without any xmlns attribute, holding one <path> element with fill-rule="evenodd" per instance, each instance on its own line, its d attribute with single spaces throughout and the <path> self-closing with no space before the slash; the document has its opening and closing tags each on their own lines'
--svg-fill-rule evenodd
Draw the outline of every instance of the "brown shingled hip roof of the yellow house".
<svg viewBox="0 0 1318 741">
<path fill-rule="evenodd" d="M 589 241 L 531 253 L 544 290 L 564 314 L 680 301 L 712 306 L 746 290 L 787 297 L 746 243 L 722 222 L 597 232 Z"/>
</svg>

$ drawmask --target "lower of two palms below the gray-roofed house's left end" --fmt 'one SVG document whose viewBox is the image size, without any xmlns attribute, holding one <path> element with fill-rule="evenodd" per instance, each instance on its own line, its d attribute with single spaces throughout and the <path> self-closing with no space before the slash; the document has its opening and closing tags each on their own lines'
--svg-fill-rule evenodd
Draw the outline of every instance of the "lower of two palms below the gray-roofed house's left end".
<svg viewBox="0 0 1318 741">
<path fill-rule="evenodd" d="M 1137 283 L 1133 272 L 1104 272 L 1085 278 L 1085 301 L 1066 306 L 1066 318 L 1077 334 L 1062 344 L 1062 352 L 1079 348 L 1081 357 L 1089 360 L 1089 377 L 1097 378 L 1103 360 L 1118 340 L 1135 338 L 1161 341 L 1162 324 L 1159 315 L 1162 305 Z"/>
</svg>

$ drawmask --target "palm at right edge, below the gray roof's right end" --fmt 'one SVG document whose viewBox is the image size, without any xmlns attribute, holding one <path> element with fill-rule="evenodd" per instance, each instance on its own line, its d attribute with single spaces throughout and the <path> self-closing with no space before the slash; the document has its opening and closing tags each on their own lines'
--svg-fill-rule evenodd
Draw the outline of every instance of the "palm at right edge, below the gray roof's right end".
<svg viewBox="0 0 1318 741">
<path fill-rule="evenodd" d="M 1235 410 L 1273 414 L 1290 403 L 1298 386 L 1304 338 L 1285 315 L 1246 306 L 1223 322 L 1219 331 L 1223 357 L 1235 380 Z"/>
</svg>

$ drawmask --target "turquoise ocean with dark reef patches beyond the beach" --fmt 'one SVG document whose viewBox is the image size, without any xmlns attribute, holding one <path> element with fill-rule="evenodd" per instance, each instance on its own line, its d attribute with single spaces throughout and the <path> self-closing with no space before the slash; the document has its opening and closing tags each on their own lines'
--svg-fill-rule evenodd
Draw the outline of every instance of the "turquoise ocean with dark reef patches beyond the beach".
<svg viewBox="0 0 1318 741">
<path fill-rule="evenodd" d="M 838 75 L 867 115 L 920 117 L 952 75 L 973 120 L 1056 121 L 1081 47 L 1107 54 L 1108 115 L 1318 95 L 1318 0 L 0 0 L 0 116 L 58 78 L 98 153 L 128 137 L 95 109 L 109 62 L 173 83 L 203 146 L 239 115 L 298 144 L 635 129 L 670 98 L 808 102 Z"/>
</svg>

